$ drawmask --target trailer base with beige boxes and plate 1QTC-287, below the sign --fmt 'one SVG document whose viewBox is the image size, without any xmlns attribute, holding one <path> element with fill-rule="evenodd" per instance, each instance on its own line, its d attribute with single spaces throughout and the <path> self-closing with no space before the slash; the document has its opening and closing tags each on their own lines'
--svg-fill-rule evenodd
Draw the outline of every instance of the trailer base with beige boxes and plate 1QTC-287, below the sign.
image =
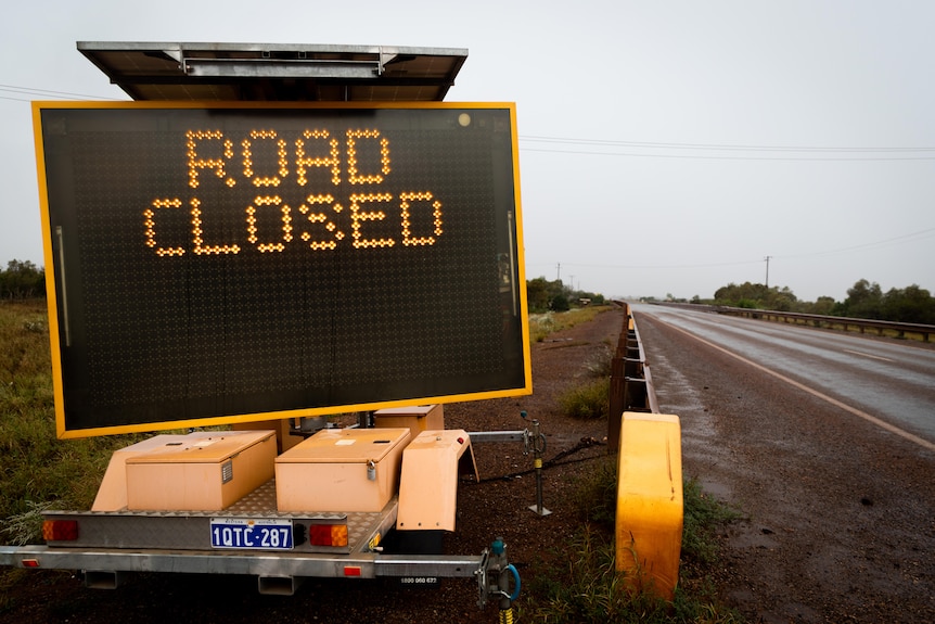
<svg viewBox="0 0 935 624">
<path fill-rule="evenodd" d="M 91 510 L 44 512 L 46 545 L 0 547 L 0 563 L 79 570 L 98 589 L 133 572 L 251 575 L 260 594 L 284 596 L 309 577 L 388 576 L 413 586 L 473 577 L 479 606 L 515 600 L 518 574 L 502 539 L 475 556 L 424 553 L 454 530 L 457 479 L 476 470 L 467 432 L 426 430 L 410 441 L 407 429 L 347 428 L 307 440 L 297 456 L 277 456 L 268 430 L 155 435 L 114 455 Z M 383 440 L 395 444 L 382 457 L 344 453 L 348 441 Z M 311 487 L 297 482 L 308 479 Z M 438 495 L 426 497 L 426 486 Z M 283 504 L 289 496 L 298 499 Z M 342 504 L 353 510 L 322 511 Z M 394 532 L 407 523 L 414 531 L 400 545 Z"/>
</svg>

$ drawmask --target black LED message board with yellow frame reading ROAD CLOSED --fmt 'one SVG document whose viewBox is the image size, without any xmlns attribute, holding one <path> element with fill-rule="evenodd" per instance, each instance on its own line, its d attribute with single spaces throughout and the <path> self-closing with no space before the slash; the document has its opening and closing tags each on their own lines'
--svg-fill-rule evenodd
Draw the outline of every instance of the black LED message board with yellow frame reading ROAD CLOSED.
<svg viewBox="0 0 935 624">
<path fill-rule="evenodd" d="M 531 392 L 511 104 L 34 116 L 61 436 Z"/>
</svg>

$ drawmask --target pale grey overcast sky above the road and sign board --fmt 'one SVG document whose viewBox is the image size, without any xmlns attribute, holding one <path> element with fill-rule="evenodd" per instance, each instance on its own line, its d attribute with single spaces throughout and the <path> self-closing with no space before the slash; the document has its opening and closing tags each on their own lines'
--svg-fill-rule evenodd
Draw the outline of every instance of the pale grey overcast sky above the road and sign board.
<svg viewBox="0 0 935 624">
<path fill-rule="evenodd" d="M 516 102 L 527 278 L 935 291 L 935 2 L 16 2 L 0 38 L 0 263 L 42 265 L 30 100 L 128 99 L 76 41 L 466 48 Z"/>
</svg>

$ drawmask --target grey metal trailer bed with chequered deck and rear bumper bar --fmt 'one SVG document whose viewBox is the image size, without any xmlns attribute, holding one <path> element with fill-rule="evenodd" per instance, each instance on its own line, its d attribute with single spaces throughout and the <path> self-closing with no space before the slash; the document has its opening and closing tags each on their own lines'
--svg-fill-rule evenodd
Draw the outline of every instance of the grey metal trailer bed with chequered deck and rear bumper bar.
<svg viewBox="0 0 935 624">
<path fill-rule="evenodd" d="M 487 555 L 387 555 L 379 546 L 393 530 L 399 502 L 394 496 L 380 512 L 283 513 L 276 511 L 271 480 L 222 511 L 47 511 L 46 520 L 72 521 L 76 539 L 44 546 L 0 546 L 0 565 L 80 570 L 89 587 L 113 588 L 127 572 L 246 574 L 264 594 L 291 595 L 303 577 L 434 581 L 485 576 Z M 291 548 L 217 547 L 219 522 L 291 523 Z M 315 546 L 313 526 L 347 526 L 347 546 Z M 405 581 L 404 581 L 405 582 Z"/>
</svg>

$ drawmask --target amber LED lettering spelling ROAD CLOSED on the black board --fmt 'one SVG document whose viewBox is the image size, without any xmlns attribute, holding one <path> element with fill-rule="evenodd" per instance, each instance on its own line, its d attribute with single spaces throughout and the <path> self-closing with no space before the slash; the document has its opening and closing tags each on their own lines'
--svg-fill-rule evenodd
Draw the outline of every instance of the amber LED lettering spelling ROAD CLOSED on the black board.
<svg viewBox="0 0 935 624">
<path fill-rule="evenodd" d="M 231 227 L 229 219 L 233 215 L 227 217 L 225 225 L 223 213 L 219 214 L 218 211 L 230 209 L 230 202 L 226 198 L 233 195 L 227 193 L 232 192 L 236 186 L 234 178 L 228 174 L 228 169 L 234 166 L 234 139 L 239 140 L 241 171 L 249 184 L 264 189 L 267 193 L 277 189 L 276 194 L 262 194 L 264 191 L 260 191 L 253 200 L 246 200 L 248 205 L 241 208 L 245 213 L 240 213 L 240 219 L 243 219 L 240 222 L 243 225 L 234 230 L 239 230 L 240 235 L 246 238 L 245 242 L 260 253 L 284 252 L 295 238 L 300 239 L 308 245 L 307 249 L 312 251 L 335 250 L 346 238 L 348 224 L 342 219 L 350 221 L 350 244 L 356 250 L 393 247 L 397 242 L 405 247 L 434 245 L 444 232 L 443 204 L 432 191 L 393 191 L 387 182 L 393 170 L 389 139 L 377 128 L 358 127 L 344 130 L 343 154 L 341 142 L 333 135 L 333 130 L 320 127 L 302 131 L 282 131 L 272 127 L 253 128 L 246 131 L 246 136 L 235 138 L 229 136 L 232 135 L 231 131 L 227 132 L 226 135 L 219 129 L 192 129 L 184 132 L 187 181 L 196 195 L 189 200 L 154 199 L 143 209 L 144 244 L 158 256 L 172 257 L 185 253 L 187 250 L 181 246 L 161 245 L 157 238 L 159 211 L 177 209 L 185 202 L 191 206 L 191 251 L 196 255 L 241 252 L 241 245 L 235 242 L 209 244 L 205 241 L 206 231 L 226 232 Z M 293 163 L 290 162 L 290 144 L 295 147 Z M 324 176 L 312 176 L 313 169 L 320 169 Z M 231 191 L 222 187 L 220 190 L 215 187 L 203 191 L 205 173 L 214 174 L 214 177 Z M 291 173 L 294 173 L 292 178 Z M 306 189 L 305 200 L 297 208 L 305 216 L 300 224 L 294 222 L 293 209 L 287 203 L 291 192 L 290 184 L 286 183 L 289 179 L 295 180 L 292 189 L 311 186 L 311 192 Z M 322 184 L 332 189 L 332 192 L 319 191 Z M 379 187 L 381 192 L 353 192 L 349 195 L 335 192 L 342 188 L 349 191 L 345 184 L 373 184 L 371 188 Z M 203 192 L 209 194 L 202 194 Z M 341 201 L 342 196 L 345 201 Z M 204 201 L 208 198 L 210 202 L 220 201 L 220 205 L 212 203 L 205 206 Z M 342 204 L 349 206 L 349 211 L 345 212 Z M 372 204 L 383 204 L 385 207 Z M 367 224 L 386 221 L 387 212 L 393 212 L 394 204 L 399 211 L 398 235 L 387 237 L 384 233 L 381 237 L 368 238 Z M 207 218 L 210 224 L 205 224 L 206 207 L 210 207 L 207 213 L 210 215 Z M 426 215 L 425 211 L 431 211 L 431 229 L 414 232 L 413 213 Z M 219 222 L 215 224 L 215 219 Z M 269 219 L 278 219 L 281 234 L 272 240 L 262 240 L 262 231 L 269 230 L 262 230 L 261 224 L 269 222 Z M 420 222 L 427 225 L 428 221 L 422 217 Z M 386 231 L 385 226 L 382 231 Z"/>
</svg>

